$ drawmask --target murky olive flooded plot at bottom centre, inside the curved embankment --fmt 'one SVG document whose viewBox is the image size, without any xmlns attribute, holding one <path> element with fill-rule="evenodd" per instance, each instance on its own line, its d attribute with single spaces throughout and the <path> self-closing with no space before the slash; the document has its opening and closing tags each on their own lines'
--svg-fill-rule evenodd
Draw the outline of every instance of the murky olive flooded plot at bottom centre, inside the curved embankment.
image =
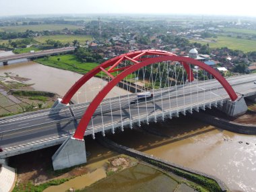
<svg viewBox="0 0 256 192">
<path fill-rule="evenodd" d="M 167 171 L 160 168 L 139 162 L 139 164 L 117 172 L 110 177 L 106 177 L 90 187 L 86 187 L 80 192 L 122 192 L 122 191 L 195 191 L 192 183 L 183 183 L 180 178 L 174 177 Z M 203 191 L 199 188 L 198 191 Z"/>
</svg>

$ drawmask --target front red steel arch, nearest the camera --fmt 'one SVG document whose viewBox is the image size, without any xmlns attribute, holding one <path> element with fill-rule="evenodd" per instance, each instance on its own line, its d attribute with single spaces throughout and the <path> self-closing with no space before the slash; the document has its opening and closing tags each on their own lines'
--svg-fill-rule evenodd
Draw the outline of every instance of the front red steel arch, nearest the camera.
<svg viewBox="0 0 256 192">
<path fill-rule="evenodd" d="M 106 84 L 106 86 L 98 93 L 98 95 L 92 100 L 88 108 L 86 109 L 86 112 L 84 113 L 81 121 L 79 122 L 79 125 L 73 135 L 76 139 L 83 139 L 84 133 L 86 132 L 86 128 L 88 126 L 88 123 L 90 123 L 90 120 L 92 118 L 92 115 L 94 114 L 96 108 L 98 108 L 100 102 L 104 99 L 106 94 L 110 92 L 122 79 L 124 79 L 127 75 L 133 73 L 134 71 L 137 71 L 141 67 L 145 67 L 147 65 L 150 65 L 152 63 L 158 63 L 162 61 L 179 61 L 181 64 L 184 65 L 184 63 L 190 63 L 191 65 L 197 65 L 201 69 L 204 69 L 208 73 L 211 73 L 217 80 L 222 84 L 228 95 L 230 96 L 231 100 L 236 100 L 237 95 L 234 92 L 232 86 L 228 84 L 226 79 L 220 75 L 217 71 L 212 69 L 212 67 L 209 67 L 205 63 L 202 63 L 200 61 L 197 61 L 195 59 L 191 59 L 189 57 L 179 57 L 177 55 L 168 55 L 163 57 L 153 57 L 150 59 L 146 59 L 145 61 L 142 61 L 141 63 L 135 63 L 135 65 L 130 65 L 129 67 L 126 67 L 124 71 L 119 73 L 116 77 L 113 77 L 113 79 Z M 93 71 L 100 71 L 100 69 L 97 67 L 93 69 Z M 115 71 L 115 70 L 113 70 Z M 108 73 L 108 71 L 106 71 Z M 111 75 L 109 73 L 109 75 Z M 113 75 L 112 75 L 113 76 Z"/>
</svg>

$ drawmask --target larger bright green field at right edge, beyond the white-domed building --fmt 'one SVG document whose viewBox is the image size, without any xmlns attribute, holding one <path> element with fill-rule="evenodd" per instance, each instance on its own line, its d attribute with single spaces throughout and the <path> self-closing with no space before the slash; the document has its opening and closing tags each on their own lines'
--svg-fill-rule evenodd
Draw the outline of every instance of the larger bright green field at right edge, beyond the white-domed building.
<svg viewBox="0 0 256 192">
<path fill-rule="evenodd" d="M 233 38 L 228 36 L 218 36 L 216 38 L 217 42 L 210 42 L 210 48 L 221 48 L 228 47 L 228 49 L 237 49 L 244 52 L 256 51 L 256 41 L 255 40 L 247 40 L 243 38 Z M 190 42 L 199 42 L 201 44 L 207 44 L 207 42 L 197 41 L 197 40 L 189 40 Z"/>
</svg>

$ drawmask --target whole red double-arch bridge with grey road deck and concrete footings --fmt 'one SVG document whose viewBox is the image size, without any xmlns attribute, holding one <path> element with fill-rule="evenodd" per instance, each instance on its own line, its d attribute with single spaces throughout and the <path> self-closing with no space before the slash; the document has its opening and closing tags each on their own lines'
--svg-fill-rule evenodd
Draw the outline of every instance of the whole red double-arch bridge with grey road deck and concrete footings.
<svg viewBox="0 0 256 192">
<path fill-rule="evenodd" d="M 68 105 L 79 88 L 96 76 L 102 77 L 104 84 L 94 91 L 94 99 Z M 63 143 L 53 156 L 54 168 L 81 164 L 86 162 L 84 135 L 105 135 L 109 129 L 115 133 L 125 126 L 163 121 L 212 106 L 230 116 L 245 113 L 243 95 L 256 93 L 254 81 L 255 75 L 225 79 L 205 63 L 167 51 L 119 55 L 78 79 L 51 110 L 0 119 L 0 158 Z M 106 98 L 117 86 L 127 94 Z"/>
</svg>

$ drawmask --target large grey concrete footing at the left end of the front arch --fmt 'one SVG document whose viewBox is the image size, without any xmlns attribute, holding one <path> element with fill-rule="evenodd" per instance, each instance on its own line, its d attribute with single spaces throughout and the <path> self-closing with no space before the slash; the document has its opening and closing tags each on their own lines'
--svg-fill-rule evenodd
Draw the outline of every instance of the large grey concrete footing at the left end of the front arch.
<svg viewBox="0 0 256 192">
<path fill-rule="evenodd" d="M 52 160 L 54 170 L 86 163 L 86 145 L 84 140 L 77 140 L 73 137 L 67 138 L 52 156 Z"/>
</svg>

